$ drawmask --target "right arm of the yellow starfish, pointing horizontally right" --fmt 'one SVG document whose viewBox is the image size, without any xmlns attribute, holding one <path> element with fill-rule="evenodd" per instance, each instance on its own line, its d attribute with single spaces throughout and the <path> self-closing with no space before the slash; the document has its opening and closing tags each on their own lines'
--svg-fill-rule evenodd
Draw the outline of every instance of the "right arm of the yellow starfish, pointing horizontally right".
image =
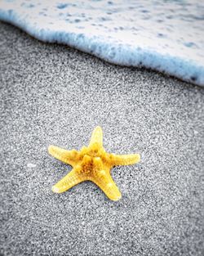
<svg viewBox="0 0 204 256">
<path fill-rule="evenodd" d="M 110 162 L 114 165 L 128 165 L 140 162 L 140 154 L 131 155 L 110 155 Z"/>
</svg>

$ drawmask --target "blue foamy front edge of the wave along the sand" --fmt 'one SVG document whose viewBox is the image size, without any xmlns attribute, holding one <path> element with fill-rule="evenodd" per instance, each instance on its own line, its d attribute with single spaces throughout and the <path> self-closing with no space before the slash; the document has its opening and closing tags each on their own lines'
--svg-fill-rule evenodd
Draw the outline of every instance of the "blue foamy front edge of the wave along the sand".
<svg viewBox="0 0 204 256">
<path fill-rule="evenodd" d="M 69 31 L 59 32 L 52 31 L 51 29 L 41 29 L 40 27 L 33 30 L 32 25 L 29 25 L 29 23 L 24 24 L 24 20 L 20 20 L 20 17 L 15 12 L 9 15 L 7 11 L 4 13 L 4 11 L 1 12 L 0 10 L 0 16 L 2 22 L 16 26 L 18 29 L 24 31 L 24 33 L 29 34 L 31 37 L 43 43 L 58 43 L 67 47 L 73 47 L 78 51 L 96 56 L 100 60 L 107 61 L 113 65 L 135 68 L 144 67 L 147 70 L 153 70 L 175 77 L 186 83 L 204 87 L 204 67 L 197 65 L 195 61 L 185 60 L 178 56 L 170 56 L 169 54 L 162 54 L 157 51 L 151 52 L 148 48 L 141 49 L 140 47 L 134 47 L 133 50 L 131 49 L 132 47 L 128 48 L 126 45 L 120 46 L 120 43 L 118 45 L 104 43 L 103 38 L 99 38 L 95 43 L 95 37 L 86 38 L 83 34 L 74 34 Z M 98 45 L 98 47 L 95 47 L 95 45 Z M 91 50 L 92 48 L 94 50 Z M 102 48 L 104 50 L 101 52 Z M 111 52 L 110 56 L 105 52 Z M 128 60 L 126 56 L 129 56 Z"/>
</svg>

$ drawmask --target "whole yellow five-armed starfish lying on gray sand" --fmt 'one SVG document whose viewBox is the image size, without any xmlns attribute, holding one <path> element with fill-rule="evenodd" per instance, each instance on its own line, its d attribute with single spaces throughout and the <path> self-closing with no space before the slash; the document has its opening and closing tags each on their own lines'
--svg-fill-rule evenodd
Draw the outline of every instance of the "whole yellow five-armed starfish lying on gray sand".
<svg viewBox="0 0 204 256">
<path fill-rule="evenodd" d="M 80 182 L 91 181 L 100 189 L 110 200 L 119 200 L 121 192 L 118 190 L 110 169 L 115 165 L 135 164 L 140 161 L 139 154 L 115 155 L 109 154 L 103 147 L 103 132 L 98 126 L 91 135 L 89 146 L 82 146 L 80 151 L 64 150 L 57 146 L 49 146 L 49 153 L 56 159 L 60 159 L 66 164 L 73 166 L 73 169 L 60 182 L 52 186 L 52 191 L 62 193 L 69 190 L 72 186 Z"/>
</svg>

